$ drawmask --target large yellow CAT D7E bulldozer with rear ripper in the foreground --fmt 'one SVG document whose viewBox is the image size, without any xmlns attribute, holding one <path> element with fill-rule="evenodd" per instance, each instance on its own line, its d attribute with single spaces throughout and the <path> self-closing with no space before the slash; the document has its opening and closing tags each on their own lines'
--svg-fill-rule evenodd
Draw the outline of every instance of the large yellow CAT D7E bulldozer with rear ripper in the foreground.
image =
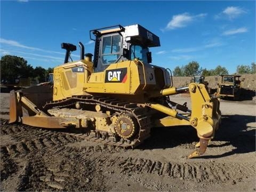
<svg viewBox="0 0 256 192">
<path fill-rule="evenodd" d="M 94 29 L 94 59 L 84 54 L 69 62 L 76 46 L 62 43 L 65 63 L 54 68 L 53 83 L 10 93 L 10 123 L 66 129 L 81 137 L 120 147 L 136 147 L 150 136 L 151 127 L 191 125 L 202 155 L 220 123 L 219 100 L 204 84 L 172 86 L 170 70 L 150 65 L 149 47 L 159 37 L 140 25 Z M 84 57 L 85 56 L 85 57 Z M 169 95 L 190 92 L 191 109 L 170 101 Z"/>
</svg>

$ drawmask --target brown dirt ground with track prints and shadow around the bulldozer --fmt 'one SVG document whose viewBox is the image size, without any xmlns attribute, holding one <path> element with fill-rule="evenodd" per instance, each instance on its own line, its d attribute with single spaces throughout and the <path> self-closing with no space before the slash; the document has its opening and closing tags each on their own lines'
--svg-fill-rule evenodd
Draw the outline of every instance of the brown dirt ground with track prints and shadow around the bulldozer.
<svg viewBox="0 0 256 192">
<path fill-rule="evenodd" d="M 255 100 L 221 100 L 222 124 L 199 158 L 192 127 L 153 128 L 135 149 L 63 132 L 4 124 L 1 93 L 1 191 L 255 191 Z M 189 97 L 171 97 L 183 104 Z"/>
</svg>

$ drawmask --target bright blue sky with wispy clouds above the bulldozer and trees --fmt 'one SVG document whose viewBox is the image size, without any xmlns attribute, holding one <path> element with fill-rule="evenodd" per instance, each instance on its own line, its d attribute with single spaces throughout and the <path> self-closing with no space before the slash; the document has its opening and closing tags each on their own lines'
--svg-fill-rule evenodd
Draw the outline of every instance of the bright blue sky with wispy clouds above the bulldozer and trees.
<svg viewBox="0 0 256 192">
<path fill-rule="evenodd" d="M 33 66 L 63 63 L 62 42 L 81 41 L 94 53 L 89 30 L 139 23 L 157 36 L 153 64 L 170 68 L 197 61 L 235 73 L 255 62 L 255 1 L 1 1 L 0 55 Z M 77 48 L 78 45 L 77 45 Z M 73 60 L 79 59 L 79 49 Z"/>
</svg>

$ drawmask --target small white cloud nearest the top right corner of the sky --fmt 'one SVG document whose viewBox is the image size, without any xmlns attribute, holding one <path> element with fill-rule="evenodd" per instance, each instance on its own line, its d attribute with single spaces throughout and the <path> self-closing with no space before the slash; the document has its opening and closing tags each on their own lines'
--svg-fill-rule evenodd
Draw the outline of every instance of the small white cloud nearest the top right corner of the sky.
<svg viewBox="0 0 256 192">
<path fill-rule="evenodd" d="M 223 18 L 234 19 L 244 13 L 246 13 L 246 11 L 241 7 L 228 6 L 221 13 L 215 15 L 215 19 L 223 19 Z"/>
</svg>

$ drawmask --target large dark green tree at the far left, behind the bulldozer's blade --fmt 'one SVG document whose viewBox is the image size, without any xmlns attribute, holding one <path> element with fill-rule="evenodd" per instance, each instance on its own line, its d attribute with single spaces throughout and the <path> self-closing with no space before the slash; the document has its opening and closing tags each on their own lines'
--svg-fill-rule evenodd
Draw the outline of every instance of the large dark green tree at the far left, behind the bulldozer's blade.
<svg viewBox="0 0 256 192">
<path fill-rule="evenodd" d="M 28 78 L 33 74 L 33 67 L 21 57 L 4 55 L 1 58 L 1 80 L 17 79 L 20 77 Z"/>
</svg>

